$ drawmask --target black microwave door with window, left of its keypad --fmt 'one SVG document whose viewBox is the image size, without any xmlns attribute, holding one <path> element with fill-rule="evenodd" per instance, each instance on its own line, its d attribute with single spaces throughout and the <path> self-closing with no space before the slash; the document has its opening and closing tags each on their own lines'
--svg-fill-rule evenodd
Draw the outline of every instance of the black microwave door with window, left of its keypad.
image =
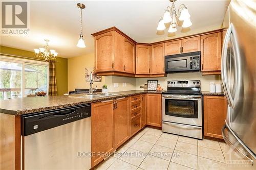
<svg viewBox="0 0 256 170">
<path fill-rule="evenodd" d="M 187 71 L 191 69 L 191 57 L 166 58 L 166 72 Z"/>
</svg>

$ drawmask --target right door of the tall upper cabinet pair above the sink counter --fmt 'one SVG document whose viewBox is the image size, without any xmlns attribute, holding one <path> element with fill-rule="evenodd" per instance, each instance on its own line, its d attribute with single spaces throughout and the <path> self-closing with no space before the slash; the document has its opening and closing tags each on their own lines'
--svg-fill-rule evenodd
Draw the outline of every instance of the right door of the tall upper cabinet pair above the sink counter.
<svg viewBox="0 0 256 170">
<path fill-rule="evenodd" d="M 124 72 L 135 74 L 135 44 L 124 38 L 123 69 Z"/>
</svg>

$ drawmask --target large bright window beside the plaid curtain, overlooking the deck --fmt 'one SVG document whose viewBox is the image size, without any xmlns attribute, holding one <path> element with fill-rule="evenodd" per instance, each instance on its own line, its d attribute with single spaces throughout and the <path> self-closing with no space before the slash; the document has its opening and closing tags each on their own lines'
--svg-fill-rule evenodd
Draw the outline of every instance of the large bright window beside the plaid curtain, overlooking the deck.
<svg viewBox="0 0 256 170">
<path fill-rule="evenodd" d="M 0 58 L 0 100 L 33 96 L 49 87 L 49 64 L 13 57 Z"/>
</svg>

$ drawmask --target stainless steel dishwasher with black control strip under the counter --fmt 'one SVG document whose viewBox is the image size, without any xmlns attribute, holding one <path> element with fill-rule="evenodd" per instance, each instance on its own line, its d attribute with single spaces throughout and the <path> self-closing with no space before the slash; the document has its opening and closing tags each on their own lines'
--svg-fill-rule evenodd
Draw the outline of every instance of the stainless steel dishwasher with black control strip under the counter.
<svg viewBox="0 0 256 170">
<path fill-rule="evenodd" d="M 22 116 L 23 169 L 90 169 L 91 105 Z"/>
</svg>

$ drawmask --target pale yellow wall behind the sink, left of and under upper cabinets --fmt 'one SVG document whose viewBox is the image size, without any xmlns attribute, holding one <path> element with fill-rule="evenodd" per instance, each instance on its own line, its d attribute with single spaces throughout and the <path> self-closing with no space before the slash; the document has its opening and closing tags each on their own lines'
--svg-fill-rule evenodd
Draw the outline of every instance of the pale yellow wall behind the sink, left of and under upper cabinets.
<svg viewBox="0 0 256 170">
<path fill-rule="evenodd" d="M 89 88 L 90 84 L 86 82 L 85 68 L 94 66 L 94 54 L 73 57 L 68 59 L 68 90 L 75 88 Z M 114 83 L 118 83 L 118 88 L 114 88 Z M 122 83 L 126 83 L 126 87 L 122 87 Z M 102 85 L 108 85 L 110 92 L 134 90 L 136 88 L 135 78 L 123 78 L 116 76 L 102 76 L 102 82 L 94 82 L 93 87 L 98 89 Z"/>
</svg>

